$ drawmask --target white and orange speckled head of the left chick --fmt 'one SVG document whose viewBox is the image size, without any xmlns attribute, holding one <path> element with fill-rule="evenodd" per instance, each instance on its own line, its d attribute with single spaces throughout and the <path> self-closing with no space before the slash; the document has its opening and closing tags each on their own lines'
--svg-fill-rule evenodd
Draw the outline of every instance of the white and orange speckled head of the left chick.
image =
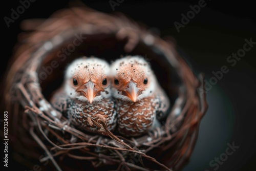
<svg viewBox="0 0 256 171">
<path fill-rule="evenodd" d="M 110 94 L 110 66 L 99 58 L 79 58 L 67 68 L 65 90 L 71 98 L 93 103 Z"/>
</svg>

